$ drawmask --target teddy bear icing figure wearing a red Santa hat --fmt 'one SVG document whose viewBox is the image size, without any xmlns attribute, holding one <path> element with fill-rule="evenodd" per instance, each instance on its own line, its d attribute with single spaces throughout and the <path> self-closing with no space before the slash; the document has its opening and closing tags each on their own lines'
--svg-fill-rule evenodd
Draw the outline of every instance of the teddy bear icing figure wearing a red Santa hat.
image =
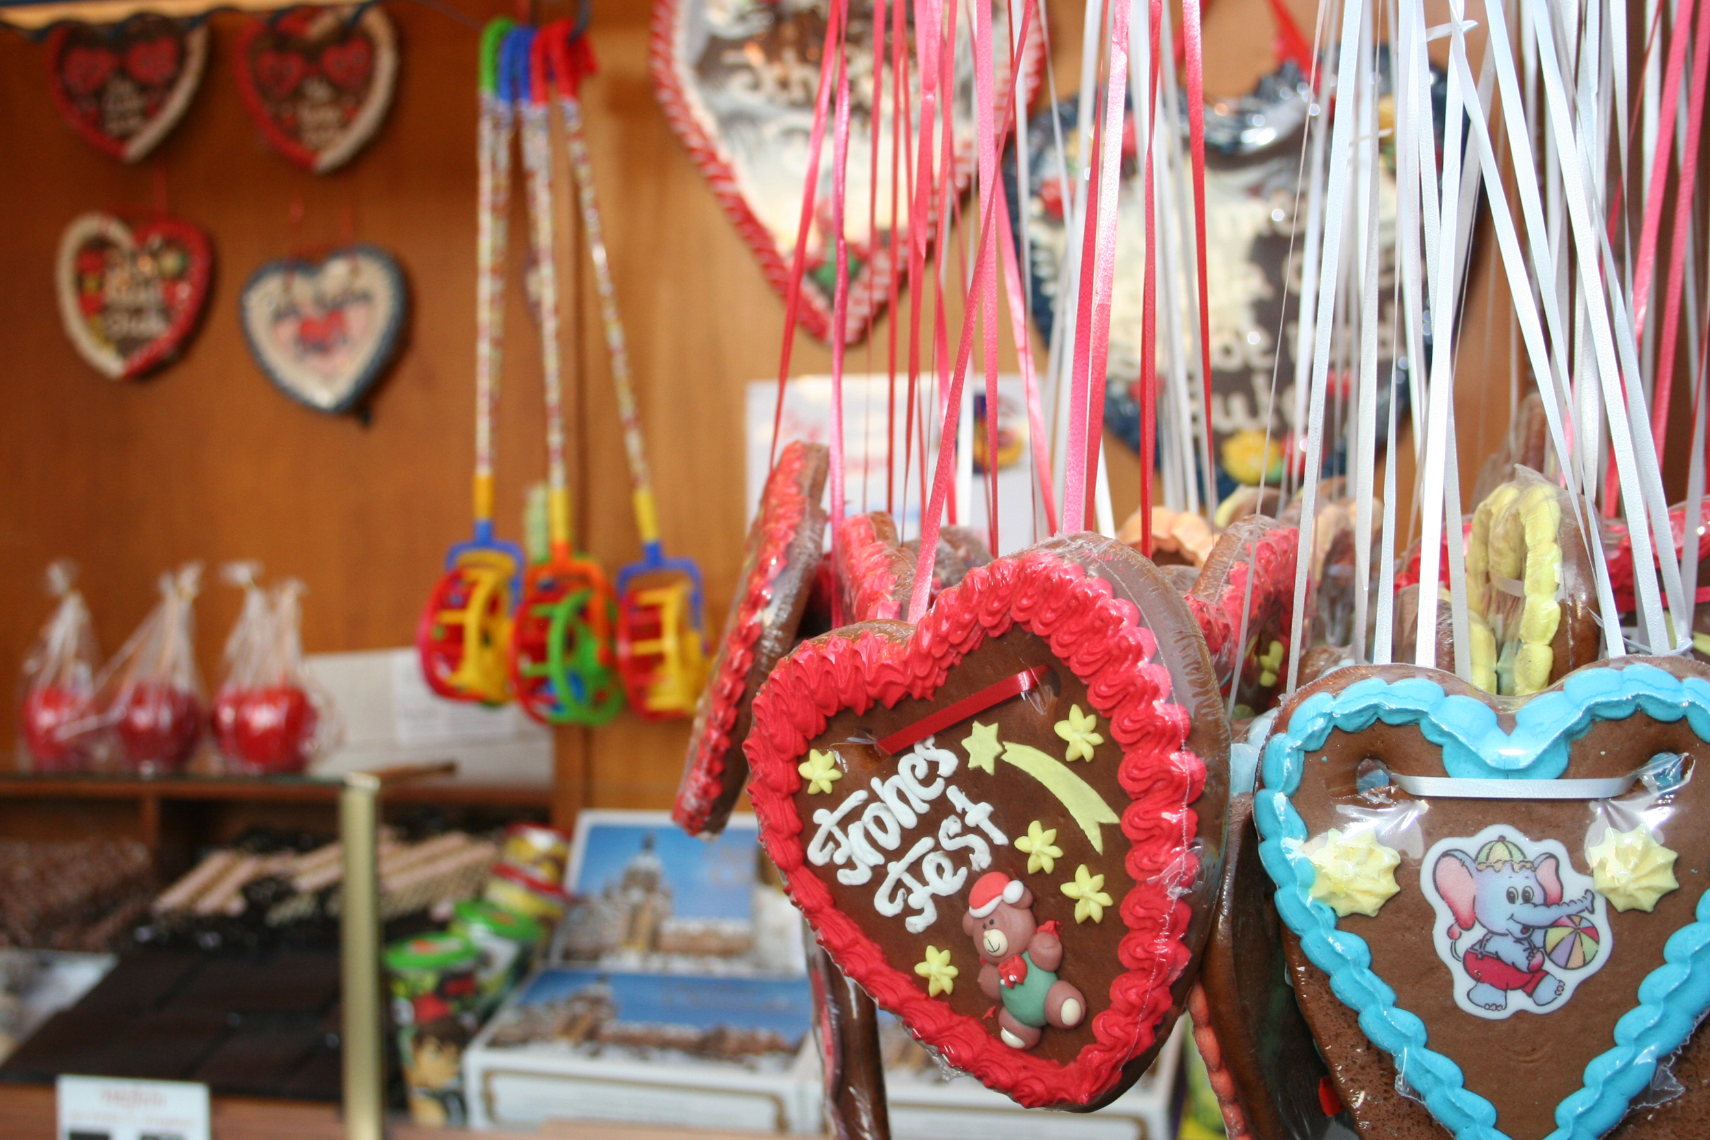
<svg viewBox="0 0 1710 1140">
<path fill-rule="evenodd" d="M 1033 921 L 1033 892 L 1019 880 L 982 875 L 968 894 L 963 931 L 980 950 L 980 990 L 1002 1002 L 997 1032 L 1004 1044 L 1031 1049 L 1047 1025 L 1074 1029 L 1086 1017 L 1086 996 L 1057 978 L 1064 961 L 1057 923 Z"/>
</svg>

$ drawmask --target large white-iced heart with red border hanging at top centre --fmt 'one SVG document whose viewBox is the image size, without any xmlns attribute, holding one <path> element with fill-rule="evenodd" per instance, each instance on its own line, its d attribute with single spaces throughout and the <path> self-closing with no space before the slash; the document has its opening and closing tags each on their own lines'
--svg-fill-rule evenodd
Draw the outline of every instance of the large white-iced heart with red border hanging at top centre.
<svg viewBox="0 0 1710 1140">
<path fill-rule="evenodd" d="M 1019 10 L 1019 9 L 1017 9 Z M 848 58 L 872 58 L 872 3 L 850 5 Z M 975 82 L 973 39 L 963 27 L 951 58 L 963 62 L 954 75 L 954 188 L 968 188 L 975 167 Z M 790 291 L 795 239 L 802 214 L 802 176 L 807 171 L 807 128 L 814 120 L 814 96 L 819 85 L 819 53 L 824 43 L 826 9 L 823 5 L 749 3 L 725 5 L 711 0 L 657 0 L 653 5 L 652 68 L 653 87 L 672 130 L 689 149 L 718 205 L 735 224 L 742 239 L 759 258 L 766 280 L 780 294 Z M 913 27 L 906 32 L 913 39 Z M 1009 7 L 992 3 L 994 73 L 999 91 L 994 104 L 1000 111 L 1009 89 Z M 1038 27 L 1028 36 L 1021 60 L 1021 92 L 1016 106 L 1026 108 L 1038 87 L 1043 63 L 1043 38 Z M 913 51 L 910 46 L 908 51 Z M 886 80 L 889 82 L 889 80 Z M 920 84 L 908 79 L 906 96 L 915 113 L 915 137 L 920 132 Z M 942 96 L 940 96 L 942 97 Z M 850 109 L 857 121 L 869 121 L 876 103 L 872 70 L 852 68 Z M 869 227 L 870 197 L 877 197 L 879 219 L 891 217 L 891 116 L 884 116 L 879 140 L 877 179 L 870 135 L 850 138 L 848 209 L 845 236 L 850 253 L 848 309 L 843 328 L 833 328 L 834 270 L 831 246 L 829 195 L 821 191 L 821 209 L 809 231 L 805 275 L 800 285 L 799 320 L 823 340 L 860 340 L 867 326 L 891 296 L 893 280 L 906 268 L 908 243 L 901 227 L 896 243 L 889 222 Z M 821 156 L 829 186 L 831 149 Z M 877 190 L 874 190 L 874 185 Z M 899 207 L 903 210 L 906 207 Z M 896 251 L 893 256 L 893 250 Z"/>
</svg>

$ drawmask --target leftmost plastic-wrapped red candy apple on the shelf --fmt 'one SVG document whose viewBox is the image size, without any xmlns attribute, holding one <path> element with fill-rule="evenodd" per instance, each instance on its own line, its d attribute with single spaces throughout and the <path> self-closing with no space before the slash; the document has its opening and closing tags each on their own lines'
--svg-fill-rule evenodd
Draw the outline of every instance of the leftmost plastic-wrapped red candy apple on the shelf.
<svg viewBox="0 0 1710 1140">
<path fill-rule="evenodd" d="M 36 773 L 75 773 L 91 759 L 79 725 L 91 716 L 101 651 L 74 581 L 75 562 L 60 559 L 48 567 L 48 593 L 60 603 L 24 658 L 19 742 L 26 766 Z"/>
</svg>

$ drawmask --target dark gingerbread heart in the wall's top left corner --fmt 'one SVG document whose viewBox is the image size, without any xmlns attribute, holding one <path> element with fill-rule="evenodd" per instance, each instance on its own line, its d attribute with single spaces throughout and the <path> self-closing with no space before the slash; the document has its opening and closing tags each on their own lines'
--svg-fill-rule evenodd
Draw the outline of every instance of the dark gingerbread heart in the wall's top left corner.
<svg viewBox="0 0 1710 1140">
<path fill-rule="evenodd" d="M 62 24 L 48 36 L 48 91 L 79 135 L 135 162 L 190 109 L 207 53 L 205 24 L 164 15 Z"/>
</svg>

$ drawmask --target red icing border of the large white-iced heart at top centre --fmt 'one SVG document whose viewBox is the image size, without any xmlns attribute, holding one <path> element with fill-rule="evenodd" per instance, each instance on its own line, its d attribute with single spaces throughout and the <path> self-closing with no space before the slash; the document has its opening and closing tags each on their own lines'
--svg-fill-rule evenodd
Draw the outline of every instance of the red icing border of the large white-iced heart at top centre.
<svg viewBox="0 0 1710 1140">
<path fill-rule="evenodd" d="M 749 250 L 754 251 L 754 258 L 759 261 L 761 272 L 766 275 L 768 284 L 778 292 L 780 297 L 790 296 L 790 268 L 792 260 L 785 258 L 778 243 L 773 239 L 766 226 L 754 215 L 752 207 L 749 207 L 747 198 L 742 197 L 742 190 L 737 186 L 735 171 L 730 169 L 730 162 L 725 157 L 723 149 L 706 137 L 701 128 L 701 121 L 694 116 L 689 108 L 689 96 L 682 87 L 682 77 L 677 73 L 675 65 L 675 27 L 681 7 L 691 3 L 693 0 L 655 0 L 653 3 L 653 27 L 648 41 L 648 67 L 653 72 L 653 92 L 658 96 L 658 104 L 665 111 L 665 120 L 670 128 L 687 147 L 689 157 L 694 161 L 696 169 L 711 186 L 713 197 L 718 200 L 718 207 L 725 212 L 725 217 L 737 227 L 742 234 L 742 241 Z M 1041 36 L 1028 36 L 1028 43 L 1023 46 L 1019 82 L 1021 92 L 1017 92 L 1016 104 L 1026 108 L 1033 103 L 1033 94 L 1040 85 L 1040 68 L 1045 62 Z M 995 92 L 997 101 L 1002 104 L 1009 91 L 1009 68 L 999 67 Z M 918 104 L 920 92 L 915 92 L 915 101 Z M 812 111 L 812 106 L 809 106 Z M 958 138 L 956 156 L 954 156 L 954 173 L 956 173 L 956 193 L 961 195 L 968 190 L 973 179 L 975 167 L 975 140 Z M 826 159 L 829 164 L 829 157 Z M 793 222 L 792 222 L 793 224 Z M 927 234 L 932 239 L 932 234 Z M 899 236 L 898 251 L 906 250 L 906 236 Z M 879 313 L 881 304 L 891 296 L 891 279 L 896 277 L 903 280 L 903 267 L 891 265 L 891 250 L 887 243 L 876 243 L 872 250 L 867 251 L 867 265 L 862 275 L 852 282 L 848 291 L 848 313 L 843 318 L 843 344 L 855 344 L 867 335 L 867 328 L 872 325 Z M 800 291 L 800 308 L 797 309 L 799 323 L 821 340 L 831 340 L 831 297 L 819 291 L 819 287 L 804 275 Z"/>
</svg>

